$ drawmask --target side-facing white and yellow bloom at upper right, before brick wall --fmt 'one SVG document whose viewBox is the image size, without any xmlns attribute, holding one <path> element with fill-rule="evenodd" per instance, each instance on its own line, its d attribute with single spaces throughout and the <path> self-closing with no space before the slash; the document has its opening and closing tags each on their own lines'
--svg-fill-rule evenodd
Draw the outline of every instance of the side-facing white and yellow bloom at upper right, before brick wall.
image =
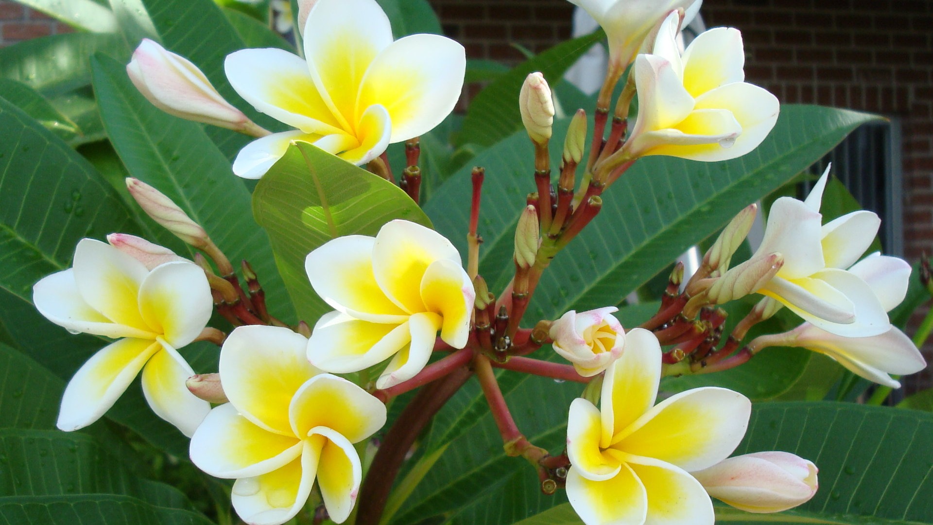
<svg viewBox="0 0 933 525">
<path fill-rule="evenodd" d="M 661 25 L 651 54 L 635 59 L 638 120 L 625 148 L 633 157 L 670 155 L 714 162 L 741 157 L 767 136 L 780 104 L 746 83 L 742 34 L 718 27 L 681 55 L 679 16 Z"/>
</svg>

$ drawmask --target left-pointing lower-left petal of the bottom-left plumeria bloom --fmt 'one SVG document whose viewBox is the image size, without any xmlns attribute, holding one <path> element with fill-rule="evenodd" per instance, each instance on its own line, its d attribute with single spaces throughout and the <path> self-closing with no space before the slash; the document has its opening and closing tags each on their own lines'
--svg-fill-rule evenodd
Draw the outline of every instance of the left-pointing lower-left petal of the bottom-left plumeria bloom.
<svg viewBox="0 0 933 525">
<path fill-rule="evenodd" d="M 252 477 L 272 472 L 301 454 L 297 437 L 271 433 L 237 413 L 233 404 L 217 406 L 191 436 L 191 461 L 209 475 Z"/>
</svg>

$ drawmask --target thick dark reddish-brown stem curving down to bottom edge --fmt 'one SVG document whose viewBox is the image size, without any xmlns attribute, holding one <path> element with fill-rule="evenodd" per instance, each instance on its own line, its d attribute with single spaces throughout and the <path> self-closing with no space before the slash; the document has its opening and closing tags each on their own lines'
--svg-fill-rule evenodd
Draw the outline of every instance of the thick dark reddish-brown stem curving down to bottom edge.
<svg viewBox="0 0 933 525">
<path fill-rule="evenodd" d="M 472 373 L 466 367 L 454 370 L 447 376 L 447 380 L 435 381 L 419 390 L 411 403 L 402 410 L 369 465 L 369 473 L 363 480 L 357 499 L 359 510 L 356 513 L 356 525 L 379 524 L 398 469 L 411 450 L 411 445 L 469 376 Z"/>
</svg>

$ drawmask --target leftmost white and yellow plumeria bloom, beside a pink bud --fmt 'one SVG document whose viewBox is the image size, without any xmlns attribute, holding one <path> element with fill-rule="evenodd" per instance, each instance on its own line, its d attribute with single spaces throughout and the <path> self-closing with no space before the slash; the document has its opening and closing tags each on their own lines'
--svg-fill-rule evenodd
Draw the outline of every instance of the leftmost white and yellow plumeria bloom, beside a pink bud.
<svg viewBox="0 0 933 525">
<path fill-rule="evenodd" d="M 214 309 L 200 267 L 165 262 L 149 270 L 118 248 L 81 239 L 74 267 L 35 283 L 33 301 L 71 333 L 118 339 L 68 382 L 58 428 L 75 431 L 100 419 L 142 370 L 143 393 L 156 415 L 194 433 L 210 404 L 185 387 L 194 371 L 176 348 L 202 332 Z"/>
</svg>

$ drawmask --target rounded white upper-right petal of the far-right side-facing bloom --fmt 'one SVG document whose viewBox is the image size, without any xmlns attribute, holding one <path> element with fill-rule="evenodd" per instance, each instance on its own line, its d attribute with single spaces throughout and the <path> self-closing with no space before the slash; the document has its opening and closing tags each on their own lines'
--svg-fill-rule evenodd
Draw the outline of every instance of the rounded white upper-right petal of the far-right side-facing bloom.
<svg viewBox="0 0 933 525">
<path fill-rule="evenodd" d="M 871 246 L 881 219 L 873 211 L 859 210 L 823 225 L 823 258 L 828 268 L 848 268 Z"/>
</svg>

